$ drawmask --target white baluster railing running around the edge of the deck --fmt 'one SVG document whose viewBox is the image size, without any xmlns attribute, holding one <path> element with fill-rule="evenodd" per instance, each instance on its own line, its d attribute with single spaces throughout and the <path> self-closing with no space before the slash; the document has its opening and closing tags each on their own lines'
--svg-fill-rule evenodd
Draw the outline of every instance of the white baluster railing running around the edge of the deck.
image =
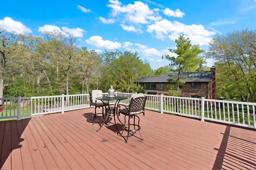
<svg viewBox="0 0 256 170">
<path fill-rule="evenodd" d="M 104 93 L 104 96 L 107 94 Z M 128 99 L 122 100 L 120 104 L 128 105 L 132 93 L 115 92 L 115 95 L 127 97 Z M 145 107 L 149 110 L 256 129 L 256 103 L 163 96 L 162 94 L 146 94 L 146 96 Z M 24 117 L 64 113 L 64 111 L 90 107 L 89 94 L 0 98 L 0 102 L 7 104 L 6 109 L 0 112 L 0 120 L 19 120 Z"/>
</svg>

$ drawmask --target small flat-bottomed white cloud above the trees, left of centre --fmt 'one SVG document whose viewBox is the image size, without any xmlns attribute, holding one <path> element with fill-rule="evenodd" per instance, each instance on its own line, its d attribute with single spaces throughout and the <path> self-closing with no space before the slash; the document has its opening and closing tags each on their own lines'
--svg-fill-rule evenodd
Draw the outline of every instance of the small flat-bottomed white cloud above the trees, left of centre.
<svg viewBox="0 0 256 170">
<path fill-rule="evenodd" d="M 96 47 L 104 47 L 106 49 L 118 49 L 121 47 L 121 43 L 103 40 L 100 36 L 92 36 L 86 40 L 86 43 L 95 45 Z"/>
</svg>

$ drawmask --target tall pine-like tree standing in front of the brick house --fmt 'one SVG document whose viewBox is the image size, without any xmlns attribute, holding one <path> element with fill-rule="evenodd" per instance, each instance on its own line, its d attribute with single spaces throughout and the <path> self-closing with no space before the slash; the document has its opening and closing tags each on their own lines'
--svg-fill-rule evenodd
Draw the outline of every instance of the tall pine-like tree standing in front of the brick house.
<svg viewBox="0 0 256 170">
<path fill-rule="evenodd" d="M 170 65 L 174 67 L 173 71 L 178 73 L 177 77 L 170 75 L 171 78 L 168 79 L 169 82 L 177 84 L 177 89 L 176 86 L 170 87 L 170 94 L 177 94 L 176 91 L 179 93 L 179 85 L 185 83 L 181 79 L 186 77 L 181 77 L 181 72 L 194 72 L 200 65 L 205 63 L 203 57 L 199 55 L 203 53 L 204 50 L 202 50 L 199 45 L 192 45 L 188 37 L 185 38 L 184 35 L 180 35 L 178 39 L 175 40 L 175 43 L 177 44 L 177 49 L 169 49 L 169 51 L 175 53 L 177 57 L 165 55 L 165 58 L 171 62 Z"/>
</svg>

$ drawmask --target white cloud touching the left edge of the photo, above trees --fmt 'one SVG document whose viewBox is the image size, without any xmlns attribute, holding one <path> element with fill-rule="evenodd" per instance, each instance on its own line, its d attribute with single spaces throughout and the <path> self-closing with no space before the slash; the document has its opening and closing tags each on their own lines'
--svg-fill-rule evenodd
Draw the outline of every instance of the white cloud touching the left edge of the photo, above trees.
<svg viewBox="0 0 256 170">
<path fill-rule="evenodd" d="M 16 33 L 32 33 L 32 30 L 26 27 L 26 25 L 20 21 L 14 21 L 10 17 L 0 20 L 0 27 L 6 29 L 6 31 L 15 31 Z"/>
</svg>

